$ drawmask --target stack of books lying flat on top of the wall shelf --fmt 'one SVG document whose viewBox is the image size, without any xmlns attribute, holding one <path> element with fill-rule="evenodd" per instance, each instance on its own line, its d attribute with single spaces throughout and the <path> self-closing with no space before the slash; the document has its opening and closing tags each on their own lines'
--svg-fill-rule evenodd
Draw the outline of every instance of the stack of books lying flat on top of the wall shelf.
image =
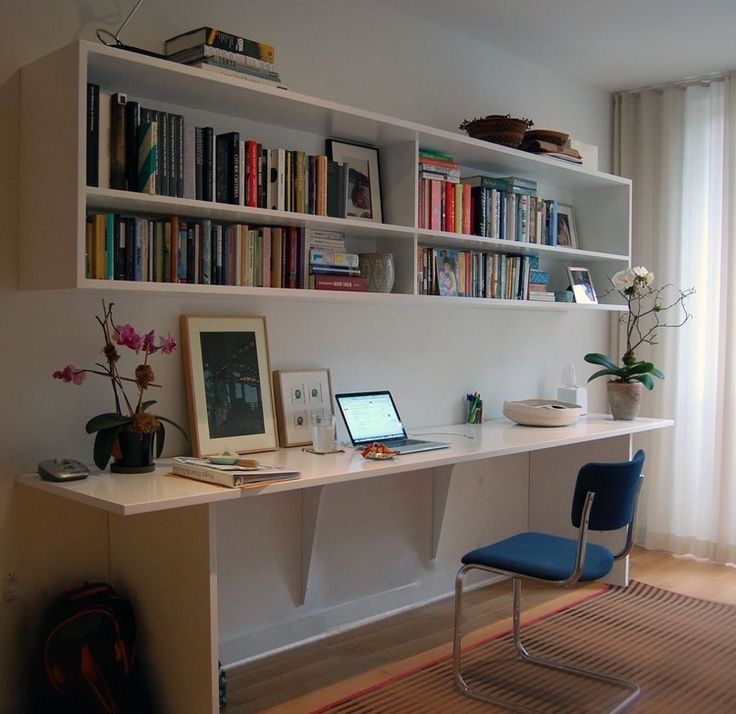
<svg viewBox="0 0 736 714">
<path fill-rule="evenodd" d="M 276 50 L 213 27 L 198 27 L 166 40 L 166 58 L 210 72 L 287 89 L 276 71 Z"/>
</svg>

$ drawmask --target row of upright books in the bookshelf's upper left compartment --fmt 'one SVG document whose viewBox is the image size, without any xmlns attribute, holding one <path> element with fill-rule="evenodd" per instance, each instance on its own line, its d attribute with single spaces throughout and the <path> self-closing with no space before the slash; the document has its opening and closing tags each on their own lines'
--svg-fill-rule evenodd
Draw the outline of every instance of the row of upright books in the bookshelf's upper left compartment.
<svg viewBox="0 0 736 714">
<path fill-rule="evenodd" d="M 350 174 L 325 154 L 268 149 L 237 131 L 87 87 L 87 185 L 344 218 Z"/>
</svg>

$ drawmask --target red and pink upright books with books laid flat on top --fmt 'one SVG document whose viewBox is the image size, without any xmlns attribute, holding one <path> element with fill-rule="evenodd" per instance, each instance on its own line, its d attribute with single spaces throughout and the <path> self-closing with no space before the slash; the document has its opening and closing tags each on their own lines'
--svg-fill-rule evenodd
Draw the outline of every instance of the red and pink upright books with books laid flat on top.
<svg viewBox="0 0 736 714">
<path fill-rule="evenodd" d="M 419 150 L 419 228 L 470 233 L 470 187 L 460 183 L 460 164 L 451 156 Z"/>
</svg>

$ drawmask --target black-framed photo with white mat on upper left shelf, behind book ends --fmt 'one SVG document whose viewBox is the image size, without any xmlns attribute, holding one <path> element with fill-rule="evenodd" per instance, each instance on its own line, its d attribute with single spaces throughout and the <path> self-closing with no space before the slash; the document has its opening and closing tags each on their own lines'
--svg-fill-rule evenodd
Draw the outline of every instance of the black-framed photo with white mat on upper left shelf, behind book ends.
<svg viewBox="0 0 736 714">
<path fill-rule="evenodd" d="M 378 149 L 327 139 L 327 156 L 348 165 L 347 218 L 382 223 Z"/>
</svg>

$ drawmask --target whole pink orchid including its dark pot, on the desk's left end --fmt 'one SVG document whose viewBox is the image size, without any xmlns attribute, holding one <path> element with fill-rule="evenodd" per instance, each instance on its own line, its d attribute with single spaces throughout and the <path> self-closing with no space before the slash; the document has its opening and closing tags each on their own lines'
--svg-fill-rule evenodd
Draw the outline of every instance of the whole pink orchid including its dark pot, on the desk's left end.
<svg viewBox="0 0 736 714">
<path fill-rule="evenodd" d="M 102 315 L 97 322 L 102 329 L 104 344 L 102 354 L 105 363 L 97 363 L 95 369 L 79 369 L 68 364 L 63 370 L 53 373 L 54 379 L 82 384 L 88 374 L 99 374 L 110 380 L 115 402 L 114 412 L 105 412 L 87 422 L 87 433 L 95 434 L 94 461 L 104 469 L 111 456 L 115 461 L 110 470 L 118 473 L 145 473 L 153 471 L 154 442 L 156 456 L 161 456 L 164 446 L 164 424 L 167 422 L 186 434 L 170 419 L 147 411 L 156 402 L 143 401 L 144 392 L 161 385 L 155 383 L 155 375 L 148 363 L 151 355 L 160 352 L 169 355 L 176 349 L 176 340 L 171 335 L 159 337 L 151 330 L 139 333 L 132 325 L 118 325 L 113 318 L 114 303 L 102 301 Z M 118 347 L 132 350 L 136 355 L 143 353 L 143 362 L 134 371 L 133 377 L 123 377 L 119 371 L 120 353 Z M 136 396 L 129 398 L 125 391 L 135 385 Z"/>
</svg>

